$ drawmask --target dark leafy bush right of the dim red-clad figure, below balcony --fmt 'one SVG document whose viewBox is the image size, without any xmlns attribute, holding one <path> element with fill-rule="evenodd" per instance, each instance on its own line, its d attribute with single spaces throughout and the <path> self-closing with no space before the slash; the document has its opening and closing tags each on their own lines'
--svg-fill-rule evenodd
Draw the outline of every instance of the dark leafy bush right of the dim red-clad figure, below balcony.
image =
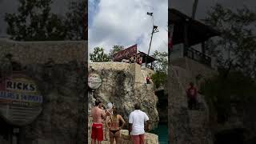
<svg viewBox="0 0 256 144">
<path fill-rule="evenodd" d="M 242 72 L 232 71 L 226 77 L 222 72 L 202 84 L 202 94 L 206 96 L 211 111 L 218 114 L 218 122 L 226 122 L 231 113 L 231 106 L 244 107 L 246 102 L 254 98 L 256 84 L 254 80 Z"/>
</svg>

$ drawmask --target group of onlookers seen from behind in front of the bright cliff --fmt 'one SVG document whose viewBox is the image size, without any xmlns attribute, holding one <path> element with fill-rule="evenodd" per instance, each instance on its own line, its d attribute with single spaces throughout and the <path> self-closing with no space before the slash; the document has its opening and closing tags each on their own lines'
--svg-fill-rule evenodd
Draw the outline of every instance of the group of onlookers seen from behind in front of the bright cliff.
<svg viewBox="0 0 256 144">
<path fill-rule="evenodd" d="M 120 130 L 126 126 L 125 120 L 118 114 L 117 108 L 108 103 L 106 110 L 103 109 L 102 102 L 97 99 L 95 106 L 91 110 L 93 124 L 91 126 L 91 143 L 100 144 L 103 141 L 103 135 L 106 139 L 106 133 L 109 133 L 110 144 L 114 141 L 120 143 Z M 103 123 L 106 124 L 106 129 L 103 132 Z M 141 104 L 134 105 L 134 111 L 129 115 L 129 135 L 134 144 L 144 144 L 145 131 L 149 130 L 149 117 L 141 110 Z M 103 134 L 105 133 L 105 134 Z"/>
</svg>

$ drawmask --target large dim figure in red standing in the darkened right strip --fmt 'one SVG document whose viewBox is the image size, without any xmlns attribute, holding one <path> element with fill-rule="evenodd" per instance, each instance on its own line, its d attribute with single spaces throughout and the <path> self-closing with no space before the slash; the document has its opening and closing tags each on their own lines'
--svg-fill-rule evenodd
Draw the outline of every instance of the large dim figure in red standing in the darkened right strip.
<svg viewBox="0 0 256 144">
<path fill-rule="evenodd" d="M 188 106 L 190 110 L 196 109 L 197 94 L 198 94 L 198 90 L 194 87 L 194 83 L 190 82 L 190 87 L 186 90 L 186 96 L 188 98 Z"/>
</svg>

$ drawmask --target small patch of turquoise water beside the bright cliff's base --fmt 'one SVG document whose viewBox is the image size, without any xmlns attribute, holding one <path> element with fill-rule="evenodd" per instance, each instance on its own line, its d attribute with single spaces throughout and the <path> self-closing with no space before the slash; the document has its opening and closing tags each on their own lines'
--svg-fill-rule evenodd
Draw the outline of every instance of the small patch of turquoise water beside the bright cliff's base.
<svg viewBox="0 0 256 144">
<path fill-rule="evenodd" d="M 168 143 L 168 127 L 164 124 L 159 124 L 158 128 L 151 130 L 150 133 L 158 135 L 159 144 L 169 144 Z"/>
</svg>

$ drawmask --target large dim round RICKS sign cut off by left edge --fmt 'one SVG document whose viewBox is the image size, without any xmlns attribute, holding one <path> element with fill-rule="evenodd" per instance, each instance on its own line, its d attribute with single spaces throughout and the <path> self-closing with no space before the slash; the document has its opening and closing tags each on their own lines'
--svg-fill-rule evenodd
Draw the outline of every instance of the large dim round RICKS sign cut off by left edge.
<svg viewBox="0 0 256 144">
<path fill-rule="evenodd" d="M 12 125 L 33 122 L 42 111 L 42 95 L 37 84 L 24 74 L 0 79 L 0 115 Z"/>
</svg>

